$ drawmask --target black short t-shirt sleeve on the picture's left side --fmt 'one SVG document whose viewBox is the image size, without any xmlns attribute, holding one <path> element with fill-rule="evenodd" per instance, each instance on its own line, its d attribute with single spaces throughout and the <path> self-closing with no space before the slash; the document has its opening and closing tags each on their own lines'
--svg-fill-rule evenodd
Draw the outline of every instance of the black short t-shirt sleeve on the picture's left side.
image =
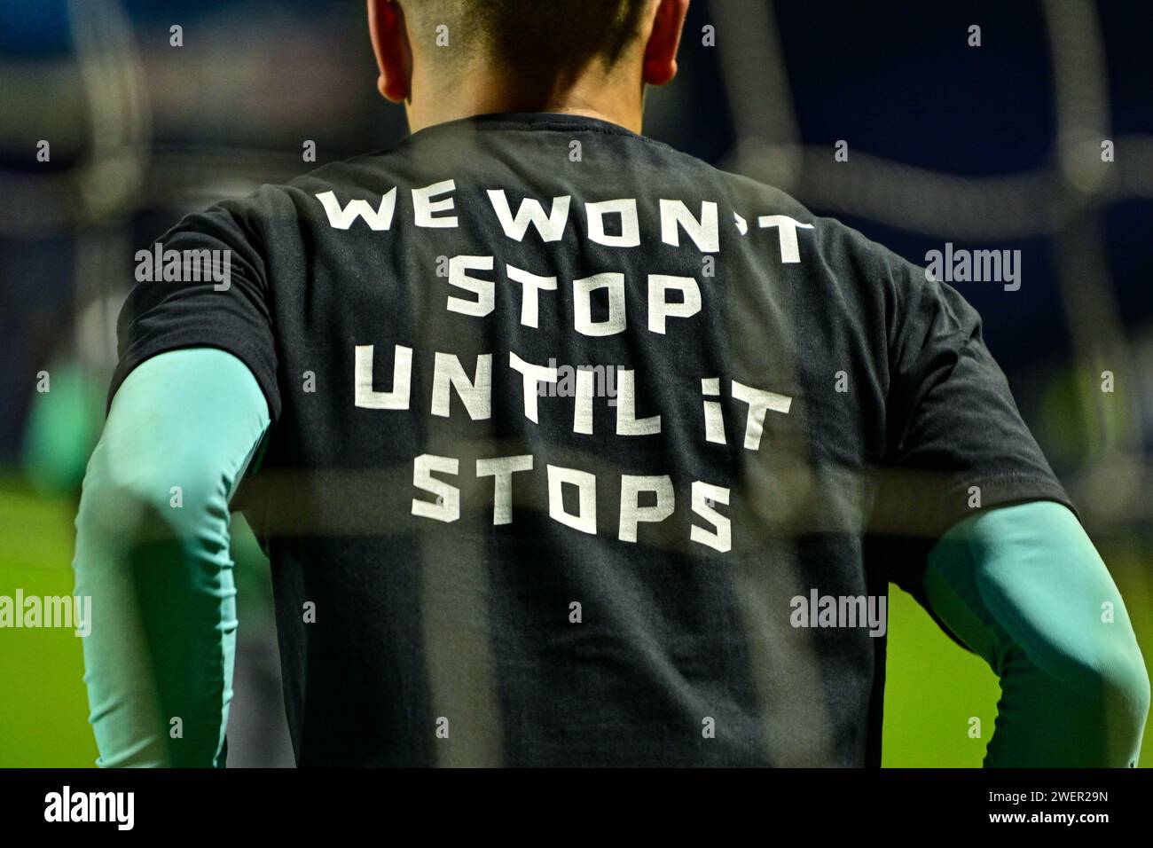
<svg viewBox="0 0 1153 848">
<path fill-rule="evenodd" d="M 137 283 L 116 322 L 119 362 L 108 404 L 146 359 L 183 347 L 216 347 L 248 366 L 276 421 L 280 392 L 263 255 L 242 202 L 186 216 L 137 253 Z"/>
</svg>

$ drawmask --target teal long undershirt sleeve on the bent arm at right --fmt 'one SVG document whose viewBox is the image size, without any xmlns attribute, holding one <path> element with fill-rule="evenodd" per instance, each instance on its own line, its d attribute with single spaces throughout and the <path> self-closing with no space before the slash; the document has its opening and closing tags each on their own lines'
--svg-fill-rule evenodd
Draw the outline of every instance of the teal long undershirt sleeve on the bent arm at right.
<svg viewBox="0 0 1153 848">
<path fill-rule="evenodd" d="M 1113 578 L 1053 502 L 981 512 L 929 555 L 933 611 L 1001 682 L 986 766 L 1132 766 L 1150 682 Z"/>
</svg>

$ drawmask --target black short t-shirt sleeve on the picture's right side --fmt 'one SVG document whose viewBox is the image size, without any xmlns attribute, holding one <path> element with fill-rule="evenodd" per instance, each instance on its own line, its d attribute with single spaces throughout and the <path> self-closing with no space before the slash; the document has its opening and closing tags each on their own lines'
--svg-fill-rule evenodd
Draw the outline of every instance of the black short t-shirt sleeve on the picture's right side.
<svg viewBox="0 0 1153 848">
<path fill-rule="evenodd" d="M 892 256 L 887 343 L 887 458 L 879 523 L 911 536 L 909 580 L 927 551 L 978 510 L 1026 501 L 1076 509 L 1017 410 L 981 337 L 977 310 L 951 286 Z M 907 580 L 897 579 L 905 586 Z M 917 586 L 919 588 L 919 585 Z"/>
</svg>

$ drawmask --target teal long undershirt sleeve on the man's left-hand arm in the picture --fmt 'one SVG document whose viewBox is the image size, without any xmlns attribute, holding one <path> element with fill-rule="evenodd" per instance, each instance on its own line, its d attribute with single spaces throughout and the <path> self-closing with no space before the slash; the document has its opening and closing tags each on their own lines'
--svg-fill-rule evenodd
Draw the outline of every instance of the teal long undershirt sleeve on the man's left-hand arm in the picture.
<svg viewBox="0 0 1153 848">
<path fill-rule="evenodd" d="M 219 350 L 164 353 L 113 398 L 76 518 L 92 599 L 84 682 L 98 766 L 223 766 L 236 638 L 228 502 L 269 426 Z"/>
</svg>

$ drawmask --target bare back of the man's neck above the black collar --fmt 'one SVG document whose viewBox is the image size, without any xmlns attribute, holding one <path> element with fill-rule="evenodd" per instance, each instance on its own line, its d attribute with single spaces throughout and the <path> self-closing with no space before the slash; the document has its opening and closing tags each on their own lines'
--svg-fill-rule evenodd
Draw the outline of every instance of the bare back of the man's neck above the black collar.
<svg viewBox="0 0 1153 848">
<path fill-rule="evenodd" d="M 478 73 L 477 73 L 478 72 Z M 405 103 L 415 133 L 436 123 L 495 112 L 556 112 L 609 121 L 640 134 L 645 89 L 633 75 L 588 69 L 570 80 L 529 84 L 475 66 L 451 81 L 414 74 Z"/>
</svg>

